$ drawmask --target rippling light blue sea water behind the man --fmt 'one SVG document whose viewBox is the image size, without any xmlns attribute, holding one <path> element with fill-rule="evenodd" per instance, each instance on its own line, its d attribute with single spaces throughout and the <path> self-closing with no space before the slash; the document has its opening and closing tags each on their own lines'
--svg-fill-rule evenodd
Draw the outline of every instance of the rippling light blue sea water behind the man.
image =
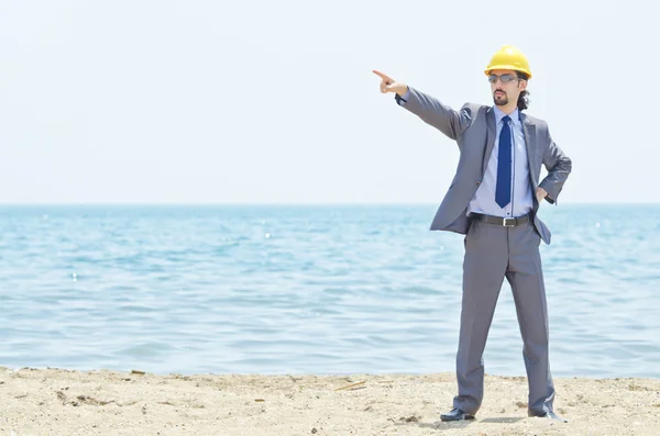
<svg viewBox="0 0 660 436">
<path fill-rule="evenodd" d="M 431 205 L 2 206 L 0 366 L 453 371 L 463 239 Z M 556 377 L 660 377 L 660 205 L 546 205 Z M 510 288 L 487 373 L 525 374 Z"/>
</svg>

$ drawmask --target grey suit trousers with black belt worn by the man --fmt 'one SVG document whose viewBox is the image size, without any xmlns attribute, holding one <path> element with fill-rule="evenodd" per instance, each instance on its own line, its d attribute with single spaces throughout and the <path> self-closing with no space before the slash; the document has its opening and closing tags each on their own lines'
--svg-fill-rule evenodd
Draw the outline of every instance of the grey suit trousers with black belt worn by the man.
<svg viewBox="0 0 660 436">
<path fill-rule="evenodd" d="M 484 396 L 483 353 L 506 277 L 516 304 L 527 371 L 528 414 L 552 411 L 554 385 L 548 354 L 548 308 L 541 269 L 541 237 L 531 222 L 505 227 L 472 221 L 465 235 L 458 395 L 453 406 L 475 414 Z"/>
</svg>

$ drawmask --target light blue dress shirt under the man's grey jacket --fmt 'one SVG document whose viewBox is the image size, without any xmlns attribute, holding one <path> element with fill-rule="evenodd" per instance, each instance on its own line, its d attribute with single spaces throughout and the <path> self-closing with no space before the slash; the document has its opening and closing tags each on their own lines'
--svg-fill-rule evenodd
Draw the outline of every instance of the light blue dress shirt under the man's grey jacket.
<svg viewBox="0 0 660 436">
<path fill-rule="evenodd" d="M 410 97 L 410 91 L 407 91 L 399 101 L 400 105 L 405 105 L 406 101 Z M 494 107 L 495 110 L 495 122 L 497 127 L 497 135 L 495 137 L 495 145 L 493 153 L 488 159 L 486 166 L 486 172 L 484 179 L 479 186 L 479 189 L 470 200 L 468 205 L 468 213 L 476 212 L 484 213 L 487 215 L 503 216 L 503 217 L 518 217 L 531 212 L 534 208 L 534 198 L 531 195 L 531 185 L 529 182 L 529 166 L 527 163 L 527 148 L 525 146 L 525 135 L 522 133 L 522 123 L 520 122 L 520 113 L 516 109 L 509 114 L 512 123 L 509 128 L 513 128 L 512 139 L 514 142 L 514 149 L 512 158 L 514 164 L 512 166 L 512 202 L 506 206 L 501 208 L 495 202 L 495 187 L 497 185 L 497 156 L 499 154 L 499 132 L 504 123 L 502 119 L 506 115 Z"/>
</svg>

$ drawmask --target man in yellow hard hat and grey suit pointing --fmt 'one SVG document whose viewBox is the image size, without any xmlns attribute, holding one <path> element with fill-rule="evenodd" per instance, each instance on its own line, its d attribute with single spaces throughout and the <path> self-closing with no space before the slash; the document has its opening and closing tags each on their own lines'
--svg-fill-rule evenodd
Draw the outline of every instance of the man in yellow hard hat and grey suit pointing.
<svg viewBox="0 0 660 436">
<path fill-rule="evenodd" d="M 550 231 L 537 216 L 540 203 L 556 203 L 571 159 L 554 144 L 544 121 L 527 109 L 527 58 L 504 46 L 485 74 L 493 107 L 465 103 L 455 111 L 433 97 L 374 70 L 381 92 L 457 141 L 457 174 L 431 231 L 465 235 L 463 298 L 457 354 L 458 395 L 442 421 L 473 420 L 484 395 L 483 353 L 504 278 L 509 282 L 522 336 L 528 415 L 561 420 L 552 409 L 554 385 L 548 355 L 548 311 L 539 245 Z M 541 165 L 548 170 L 539 182 Z M 534 193 L 534 194 L 532 194 Z"/>
</svg>

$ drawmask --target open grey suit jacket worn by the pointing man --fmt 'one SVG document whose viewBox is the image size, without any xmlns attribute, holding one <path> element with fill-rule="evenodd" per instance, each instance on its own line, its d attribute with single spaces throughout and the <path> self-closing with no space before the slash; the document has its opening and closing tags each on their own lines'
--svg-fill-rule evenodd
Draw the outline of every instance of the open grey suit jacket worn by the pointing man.
<svg viewBox="0 0 660 436">
<path fill-rule="evenodd" d="M 468 206 L 481 185 L 493 147 L 495 145 L 495 113 L 492 107 L 465 103 L 455 111 L 433 97 L 411 87 L 404 108 L 418 115 L 424 122 L 459 145 L 460 158 L 457 174 L 431 223 L 431 231 L 450 231 L 466 234 L 470 220 Z M 550 244 L 551 233 L 537 216 L 539 203 L 536 199 L 538 187 L 543 188 L 546 200 L 557 204 L 557 198 L 572 169 L 571 159 L 554 144 L 548 124 L 539 119 L 520 113 L 522 132 L 527 147 L 529 177 L 534 198 L 534 225 L 546 244 Z M 539 182 L 541 165 L 548 170 Z"/>
</svg>

